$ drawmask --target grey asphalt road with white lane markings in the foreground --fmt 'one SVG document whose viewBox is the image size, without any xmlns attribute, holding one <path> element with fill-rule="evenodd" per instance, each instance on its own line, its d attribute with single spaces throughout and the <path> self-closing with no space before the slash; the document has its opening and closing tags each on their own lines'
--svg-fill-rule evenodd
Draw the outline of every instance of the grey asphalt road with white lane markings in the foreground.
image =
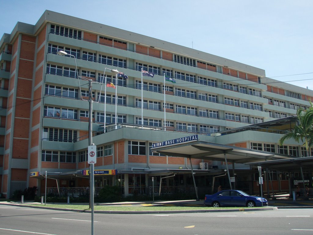
<svg viewBox="0 0 313 235">
<path fill-rule="evenodd" d="M 306 235 L 312 209 L 177 214 L 94 214 L 94 234 Z M 0 205 L 0 234 L 91 234 L 91 214 Z"/>
</svg>

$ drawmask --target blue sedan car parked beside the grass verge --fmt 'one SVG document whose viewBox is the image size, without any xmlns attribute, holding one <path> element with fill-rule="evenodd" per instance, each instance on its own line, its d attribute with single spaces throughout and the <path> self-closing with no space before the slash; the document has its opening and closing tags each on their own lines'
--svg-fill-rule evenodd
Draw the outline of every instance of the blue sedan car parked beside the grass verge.
<svg viewBox="0 0 313 235">
<path fill-rule="evenodd" d="M 265 198 L 259 196 L 250 196 L 244 191 L 240 190 L 223 190 L 212 195 L 205 195 L 205 206 L 268 206 L 268 202 Z"/>
</svg>

